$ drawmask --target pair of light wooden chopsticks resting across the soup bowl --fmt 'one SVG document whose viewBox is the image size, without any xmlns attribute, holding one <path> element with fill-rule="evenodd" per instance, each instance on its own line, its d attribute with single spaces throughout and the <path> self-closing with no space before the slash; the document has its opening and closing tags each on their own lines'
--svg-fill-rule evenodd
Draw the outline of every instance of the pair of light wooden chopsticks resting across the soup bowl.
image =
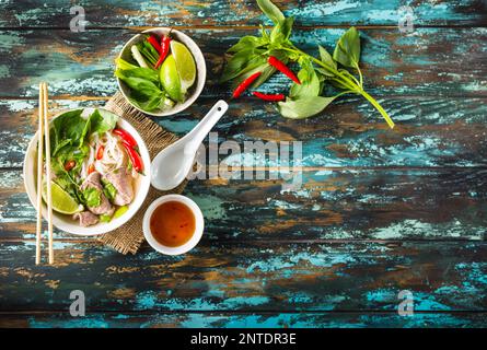
<svg viewBox="0 0 487 350">
<path fill-rule="evenodd" d="M 47 228 L 48 228 L 48 249 L 49 264 L 54 264 L 53 250 L 53 194 L 50 189 L 50 141 L 49 141 L 49 120 L 47 116 L 47 84 L 39 84 L 39 130 L 38 130 L 38 149 L 37 149 L 37 228 L 35 238 L 35 264 L 40 264 L 40 235 L 43 231 L 43 175 L 44 175 L 44 158 L 46 155 L 46 200 L 47 200 Z"/>
</svg>

